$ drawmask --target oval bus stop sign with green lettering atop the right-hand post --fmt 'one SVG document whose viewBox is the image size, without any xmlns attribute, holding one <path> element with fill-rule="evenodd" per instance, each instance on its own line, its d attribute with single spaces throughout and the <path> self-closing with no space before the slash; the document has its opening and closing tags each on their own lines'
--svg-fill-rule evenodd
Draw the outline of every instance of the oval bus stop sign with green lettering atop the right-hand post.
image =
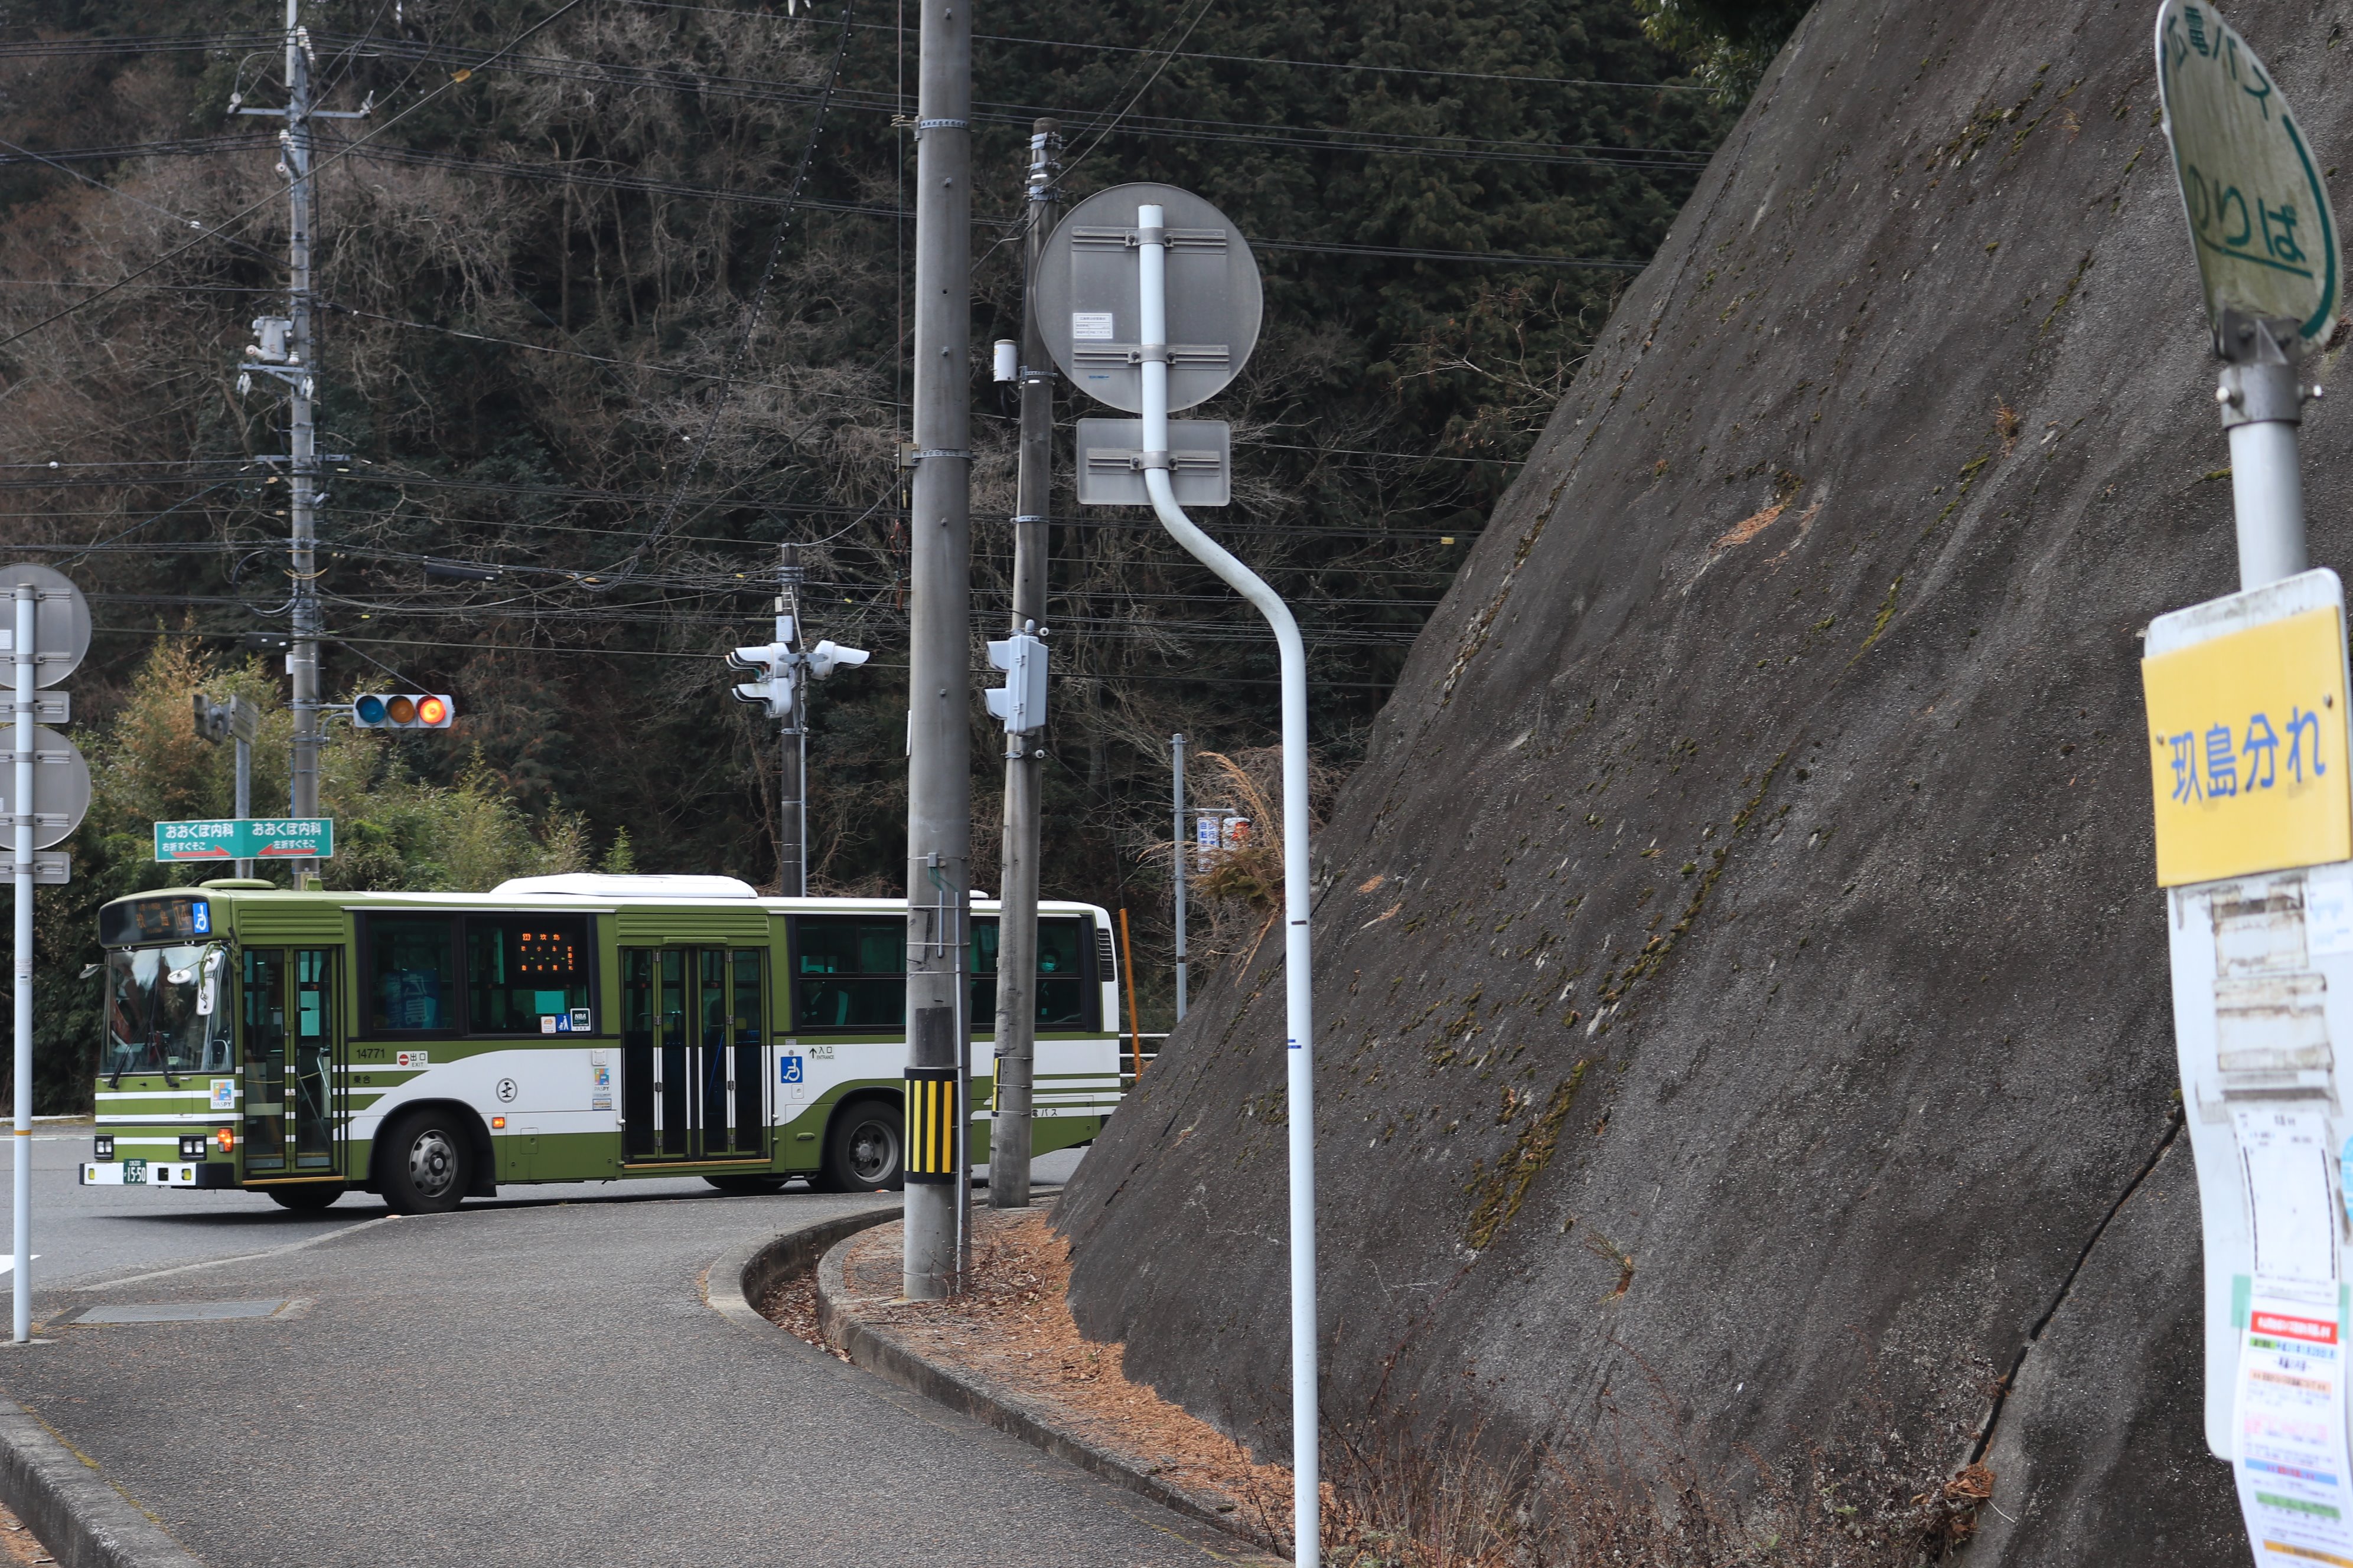
<svg viewBox="0 0 2353 1568">
<path fill-rule="evenodd" d="M 2158 94 L 2198 247 L 2207 320 L 2294 322 L 2306 346 L 2337 320 L 2337 214 L 2287 94 L 2205 0 L 2158 7 Z"/>
</svg>

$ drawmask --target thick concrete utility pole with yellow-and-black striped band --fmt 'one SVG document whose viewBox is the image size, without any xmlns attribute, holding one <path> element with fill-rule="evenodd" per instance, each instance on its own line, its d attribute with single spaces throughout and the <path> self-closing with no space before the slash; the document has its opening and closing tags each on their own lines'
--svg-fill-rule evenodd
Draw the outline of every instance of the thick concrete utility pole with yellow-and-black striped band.
<svg viewBox="0 0 2353 1568">
<path fill-rule="evenodd" d="M 920 0 L 906 722 L 906 1295 L 962 1284 L 972 1030 L 972 16 Z M 953 1117 L 944 1126 L 941 1117 Z M 946 1157 L 946 1159 L 944 1159 Z"/>
</svg>

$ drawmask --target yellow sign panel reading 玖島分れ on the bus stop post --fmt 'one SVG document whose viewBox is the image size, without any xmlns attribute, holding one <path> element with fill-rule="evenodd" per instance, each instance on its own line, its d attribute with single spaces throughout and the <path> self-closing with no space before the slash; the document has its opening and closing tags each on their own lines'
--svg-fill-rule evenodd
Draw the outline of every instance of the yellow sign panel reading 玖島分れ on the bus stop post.
<svg viewBox="0 0 2353 1568">
<path fill-rule="evenodd" d="M 2337 574 L 2160 616 L 2148 649 L 2158 886 L 2353 860 Z"/>
</svg>

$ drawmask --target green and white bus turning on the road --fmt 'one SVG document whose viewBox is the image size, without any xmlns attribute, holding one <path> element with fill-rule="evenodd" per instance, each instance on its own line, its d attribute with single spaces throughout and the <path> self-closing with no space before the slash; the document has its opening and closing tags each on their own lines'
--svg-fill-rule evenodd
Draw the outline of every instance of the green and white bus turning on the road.
<svg viewBox="0 0 2353 1568">
<path fill-rule="evenodd" d="M 974 900 L 972 1159 L 988 1159 L 998 914 Z M 82 1185 L 376 1192 L 906 1175 L 906 903 L 732 877 L 522 877 L 492 893 L 205 882 L 99 910 L 106 1044 Z M 1033 1150 L 1120 1103 L 1111 917 L 1038 907 Z"/>
</svg>

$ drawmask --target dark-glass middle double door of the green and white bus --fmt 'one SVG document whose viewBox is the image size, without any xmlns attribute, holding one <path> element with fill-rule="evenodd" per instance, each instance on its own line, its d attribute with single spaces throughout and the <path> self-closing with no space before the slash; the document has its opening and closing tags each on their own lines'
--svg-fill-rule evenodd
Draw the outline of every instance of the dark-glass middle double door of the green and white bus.
<svg viewBox="0 0 2353 1568">
<path fill-rule="evenodd" d="M 626 1164 L 767 1161 L 760 950 L 621 950 Z"/>
</svg>

